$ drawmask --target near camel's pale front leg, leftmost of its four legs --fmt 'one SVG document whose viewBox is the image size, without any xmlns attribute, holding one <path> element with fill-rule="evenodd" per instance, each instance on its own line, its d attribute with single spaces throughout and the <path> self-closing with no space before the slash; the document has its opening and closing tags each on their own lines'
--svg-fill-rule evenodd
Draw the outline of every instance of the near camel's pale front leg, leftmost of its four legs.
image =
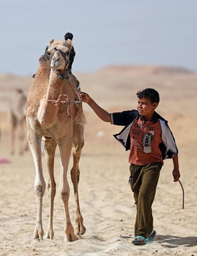
<svg viewBox="0 0 197 256">
<path fill-rule="evenodd" d="M 34 239 L 43 239 L 43 228 L 42 228 L 42 198 L 45 194 L 45 180 L 42 173 L 41 165 L 41 137 L 36 137 L 33 131 L 29 130 L 27 134 L 29 145 L 34 159 L 36 178 L 34 182 L 34 189 L 37 196 L 37 220 L 34 229 Z"/>
</svg>

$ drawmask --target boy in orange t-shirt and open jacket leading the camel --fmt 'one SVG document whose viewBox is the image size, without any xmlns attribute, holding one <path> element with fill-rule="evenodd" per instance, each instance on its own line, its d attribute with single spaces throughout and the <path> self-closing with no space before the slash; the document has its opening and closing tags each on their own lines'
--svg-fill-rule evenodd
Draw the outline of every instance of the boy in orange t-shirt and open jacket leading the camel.
<svg viewBox="0 0 197 256">
<path fill-rule="evenodd" d="M 137 110 L 121 113 L 108 113 L 88 94 L 79 93 L 80 100 L 90 105 L 98 117 L 115 125 L 124 125 L 124 129 L 114 135 L 126 151 L 130 150 L 129 184 L 134 193 L 137 209 L 135 223 L 135 245 L 144 245 L 153 241 L 156 231 L 153 229 L 151 206 L 154 202 L 163 160 L 173 160 L 173 181 L 180 178 L 178 149 L 167 121 L 155 110 L 159 104 L 159 93 L 154 89 L 137 92 Z"/>
</svg>

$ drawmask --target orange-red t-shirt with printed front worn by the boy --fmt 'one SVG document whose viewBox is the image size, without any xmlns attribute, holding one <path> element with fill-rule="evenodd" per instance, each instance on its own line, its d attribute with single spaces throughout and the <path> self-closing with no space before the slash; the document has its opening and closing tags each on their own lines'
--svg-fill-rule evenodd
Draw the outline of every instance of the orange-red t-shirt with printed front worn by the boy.
<svg viewBox="0 0 197 256">
<path fill-rule="evenodd" d="M 137 117 L 130 128 L 130 154 L 128 162 L 146 165 L 161 162 L 162 153 L 159 144 L 162 142 L 160 121 L 146 121 Z"/>
</svg>

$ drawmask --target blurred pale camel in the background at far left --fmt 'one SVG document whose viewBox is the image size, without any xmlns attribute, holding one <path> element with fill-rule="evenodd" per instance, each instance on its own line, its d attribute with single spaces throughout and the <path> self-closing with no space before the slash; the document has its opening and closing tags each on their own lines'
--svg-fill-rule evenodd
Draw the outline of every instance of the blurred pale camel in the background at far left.
<svg viewBox="0 0 197 256">
<path fill-rule="evenodd" d="M 24 152 L 29 148 L 26 137 L 26 101 L 27 96 L 25 95 L 24 91 L 22 89 L 16 89 L 14 101 L 12 101 L 9 106 L 9 119 L 11 126 L 11 155 L 15 153 L 16 133 L 18 138 L 18 153 L 23 155 Z"/>
</svg>

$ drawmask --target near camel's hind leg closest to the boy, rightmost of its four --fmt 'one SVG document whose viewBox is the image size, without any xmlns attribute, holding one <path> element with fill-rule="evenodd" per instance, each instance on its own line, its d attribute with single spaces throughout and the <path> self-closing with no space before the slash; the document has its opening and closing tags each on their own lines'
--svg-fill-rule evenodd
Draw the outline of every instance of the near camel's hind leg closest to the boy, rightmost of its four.
<svg viewBox="0 0 197 256">
<path fill-rule="evenodd" d="M 81 150 L 84 145 L 84 126 L 80 124 L 73 125 L 73 167 L 71 169 L 71 179 L 74 187 L 74 196 L 76 203 L 76 217 L 75 217 L 75 234 L 84 234 L 85 227 L 83 226 L 83 218 L 81 216 L 79 207 L 79 195 L 78 195 L 78 183 L 79 183 L 79 160 L 81 156 Z"/>
</svg>

